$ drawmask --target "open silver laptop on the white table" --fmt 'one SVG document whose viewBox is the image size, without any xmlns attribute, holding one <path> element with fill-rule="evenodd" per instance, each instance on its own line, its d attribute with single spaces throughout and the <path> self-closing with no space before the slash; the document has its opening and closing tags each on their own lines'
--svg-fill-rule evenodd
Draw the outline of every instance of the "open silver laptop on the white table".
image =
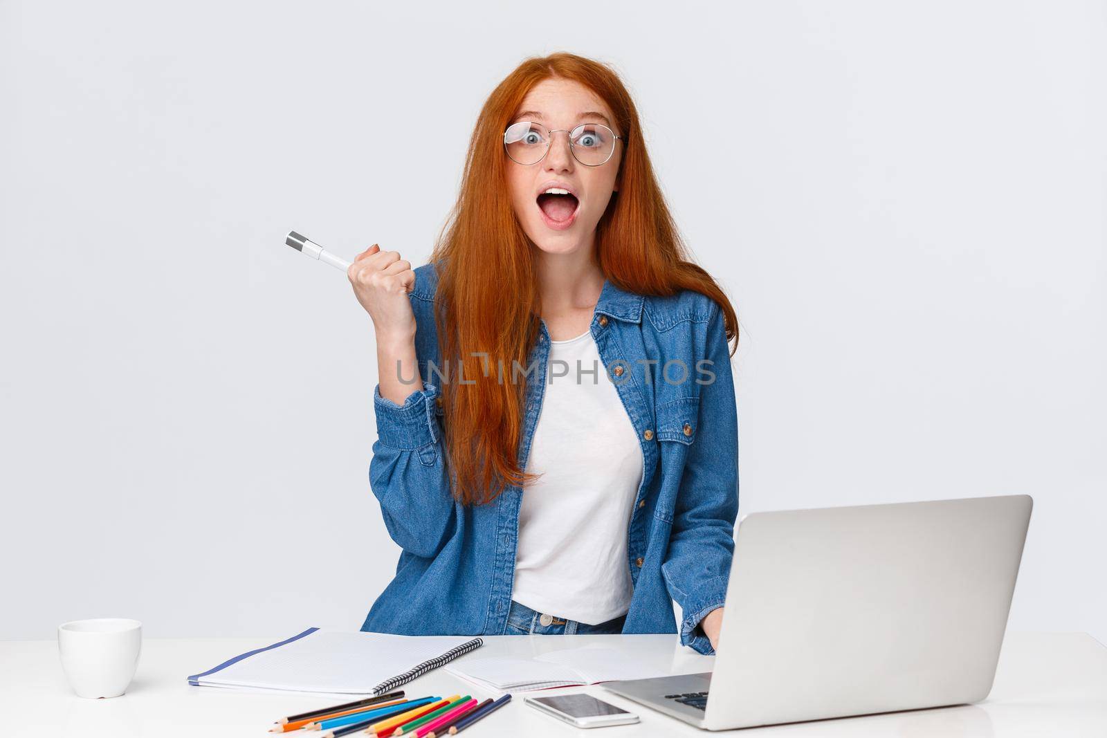
<svg viewBox="0 0 1107 738">
<path fill-rule="evenodd" d="M 714 672 L 603 687 L 707 730 L 982 700 L 1032 506 L 1013 495 L 743 516 Z"/>
</svg>

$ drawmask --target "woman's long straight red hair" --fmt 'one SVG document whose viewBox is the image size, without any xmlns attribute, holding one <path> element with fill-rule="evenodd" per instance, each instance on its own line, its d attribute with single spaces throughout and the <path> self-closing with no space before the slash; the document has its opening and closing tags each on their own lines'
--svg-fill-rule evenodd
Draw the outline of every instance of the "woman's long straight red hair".
<svg viewBox="0 0 1107 738">
<path fill-rule="evenodd" d="M 510 371 L 513 362 L 527 366 L 541 308 L 535 247 L 507 189 L 504 129 L 530 89 L 550 77 L 591 90 L 608 104 L 627 137 L 619 189 L 596 227 L 597 260 L 604 277 L 637 294 L 693 290 L 710 297 L 723 310 L 727 341 L 734 341 L 731 355 L 737 350 L 734 308 L 715 280 L 689 258 L 653 175 L 634 102 L 618 74 L 570 53 L 525 60 L 480 110 L 457 202 L 431 254 L 438 272 L 438 347 L 442 368 L 448 370 L 448 381 L 439 383 L 447 464 L 453 493 L 466 505 L 490 501 L 506 486 L 523 486 L 536 476 L 518 462 L 526 381 L 510 381 Z M 504 362 L 504 381 L 498 361 Z M 459 384 L 458 373 L 473 384 Z"/>
</svg>

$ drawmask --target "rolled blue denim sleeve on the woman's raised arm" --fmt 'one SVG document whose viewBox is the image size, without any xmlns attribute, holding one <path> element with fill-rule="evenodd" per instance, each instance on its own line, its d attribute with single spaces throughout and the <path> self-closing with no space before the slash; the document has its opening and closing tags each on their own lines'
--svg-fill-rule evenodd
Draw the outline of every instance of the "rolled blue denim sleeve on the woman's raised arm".
<svg viewBox="0 0 1107 738">
<path fill-rule="evenodd" d="M 401 548 L 434 558 L 456 524 L 442 426 L 435 414 L 438 388 L 426 382 L 402 405 L 373 388 L 376 441 L 369 481 L 381 503 L 384 526 Z"/>
</svg>

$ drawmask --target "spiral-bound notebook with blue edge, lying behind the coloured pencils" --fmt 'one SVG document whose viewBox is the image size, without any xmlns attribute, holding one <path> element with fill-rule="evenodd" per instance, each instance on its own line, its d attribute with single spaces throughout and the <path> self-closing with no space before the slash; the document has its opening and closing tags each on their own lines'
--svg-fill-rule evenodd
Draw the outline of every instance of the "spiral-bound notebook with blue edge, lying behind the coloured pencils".
<svg viewBox="0 0 1107 738">
<path fill-rule="evenodd" d="M 309 627 L 188 677 L 198 687 L 381 695 L 479 648 L 480 638 Z"/>
</svg>

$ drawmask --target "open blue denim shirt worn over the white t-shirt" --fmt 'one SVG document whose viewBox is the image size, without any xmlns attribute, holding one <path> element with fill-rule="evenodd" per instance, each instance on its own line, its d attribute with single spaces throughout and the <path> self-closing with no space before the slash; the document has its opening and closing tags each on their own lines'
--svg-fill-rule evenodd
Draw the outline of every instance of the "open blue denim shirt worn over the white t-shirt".
<svg viewBox="0 0 1107 738">
<path fill-rule="evenodd" d="M 422 388 L 402 405 L 382 397 L 380 385 L 373 389 L 377 440 L 369 480 L 389 534 L 403 550 L 395 578 L 361 630 L 497 635 L 507 627 L 511 604 L 523 489 L 509 486 L 478 506 L 451 496 L 441 388 L 428 382 L 427 371 L 433 362 L 457 381 L 438 356 L 436 284 L 434 264 L 425 264 L 415 270 L 408 293 Z M 634 592 L 622 632 L 679 632 L 682 644 L 713 654 L 696 626 L 724 603 L 738 510 L 737 408 L 723 313 L 690 290 L 640 295 L 604 281 L 590 330 L 599 371 L 609 372 L 644 459 L 629 511 L 627 567 Z M 542 321 L 520 367 L 521 377 L 536 363 L 526 377 L 518 451 L 524 468 L 549 381 L 549 342 Z M 509 372 L 505 367 L 505 381 Z M 672 601 L 682 611 L 679 628 Z"/>
</svg>

